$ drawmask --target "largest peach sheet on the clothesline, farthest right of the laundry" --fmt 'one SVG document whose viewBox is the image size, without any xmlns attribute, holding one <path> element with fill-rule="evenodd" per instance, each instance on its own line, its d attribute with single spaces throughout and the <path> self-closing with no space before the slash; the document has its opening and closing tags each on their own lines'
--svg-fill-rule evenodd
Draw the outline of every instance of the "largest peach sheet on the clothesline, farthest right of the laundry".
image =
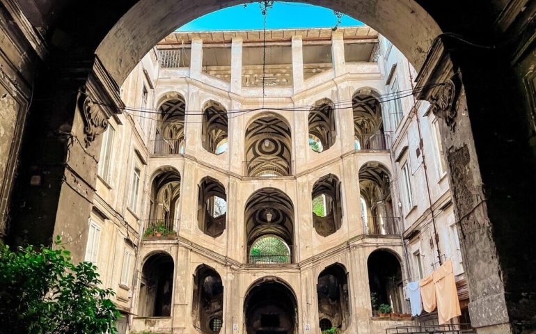
<svg viewBox="0 0 536 334">
<path fill-rule="evenodd" d="M 462 310 L 459 308 L 452 261 L 448 259 L 432 273 L 432 276 L 434 277 L 434 286 L 436 289 L 437 317 L 439 318 L 439 324 L 442 325 L 446 321 L 462 315 Z"/>
</svg>

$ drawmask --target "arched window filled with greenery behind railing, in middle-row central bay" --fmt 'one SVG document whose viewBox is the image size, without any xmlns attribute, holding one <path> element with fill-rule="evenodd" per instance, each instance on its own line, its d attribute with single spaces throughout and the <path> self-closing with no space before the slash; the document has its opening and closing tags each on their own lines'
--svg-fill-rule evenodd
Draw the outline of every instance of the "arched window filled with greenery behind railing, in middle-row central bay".
<svg viewBox="0 0 536 334">
<path fill-rule="evenodd" d="M 249 249 L 249 263 L 290 263 L 290 248 L 275 235 L 262 236 Z"/>
</svg>

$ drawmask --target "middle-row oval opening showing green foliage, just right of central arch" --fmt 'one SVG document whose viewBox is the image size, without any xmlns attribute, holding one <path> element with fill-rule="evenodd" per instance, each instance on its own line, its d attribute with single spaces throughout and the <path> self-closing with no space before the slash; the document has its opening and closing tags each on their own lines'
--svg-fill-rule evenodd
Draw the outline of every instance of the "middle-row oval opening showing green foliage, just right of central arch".
<svg viewBox="0 0 536 334">
<path fill-rule="evenodd" d="M 333 174 L 321 177 L 313 185 L 313 226 L 318 234 L 327 237 L 335 233 L 342 223 L 340 181 Z"/>
</svg>

